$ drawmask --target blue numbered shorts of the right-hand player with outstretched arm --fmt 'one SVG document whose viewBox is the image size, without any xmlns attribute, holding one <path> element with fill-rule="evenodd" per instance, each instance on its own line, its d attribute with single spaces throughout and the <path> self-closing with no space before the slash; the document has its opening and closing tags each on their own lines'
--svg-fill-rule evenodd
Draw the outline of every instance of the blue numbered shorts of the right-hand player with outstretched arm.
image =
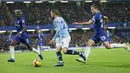
<svg viewBox="0 0 130 73">
<path fill-rule="evenodd" d="M 109 42 L 107 36 L 105 34 L 100 34 L 100 35 L 97 35 L 95 34 L 93 37 L 92 37 L 92 40 L 95 42 L 95 43 L 98 43 L 98 42 Z"/>
</svg>

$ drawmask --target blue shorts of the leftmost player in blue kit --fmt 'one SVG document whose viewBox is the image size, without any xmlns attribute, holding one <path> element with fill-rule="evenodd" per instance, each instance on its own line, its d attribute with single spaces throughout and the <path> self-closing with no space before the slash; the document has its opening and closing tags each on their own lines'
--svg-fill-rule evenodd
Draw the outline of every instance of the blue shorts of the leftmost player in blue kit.
<svg viewBox="0 0 130 73">
<path fill-rule="evenodd" d="M 29 40 L 27 35 L 21 35 L 20 37 L 15 36 L 14 40 L 16 40 L 18 44 L 20 42 L 23 43 L 23 44 L 30 44 L 30 40 Z"/>
</svg>

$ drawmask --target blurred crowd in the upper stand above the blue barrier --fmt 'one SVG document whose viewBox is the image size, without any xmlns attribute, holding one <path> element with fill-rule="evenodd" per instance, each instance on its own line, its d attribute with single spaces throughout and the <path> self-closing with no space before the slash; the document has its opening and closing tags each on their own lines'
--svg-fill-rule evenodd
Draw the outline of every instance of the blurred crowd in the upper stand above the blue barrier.
<svg viewBox="0 0 130 73">
<path fill-rule="evenodd" d="M 54 8 L 58 9 L 62 13 L 62 16 L 69 24 L 71 24 L 73 21 L 86 21 L 92 16 L 90 5 L 92 5 L 92 3 L 0 3 L 0 26 L 8 26 L 13 24 L 13 20 L 15 19 L 14 10 L 16 9 L 21 9 L 23 11 L 27 24 L 50 23 L 49 12 Z M 100 8 L 103 14 L 109 17 L 109 22 L 130 21 L 130 5 L 127 2 L 101 3 Z"/>
</svg>

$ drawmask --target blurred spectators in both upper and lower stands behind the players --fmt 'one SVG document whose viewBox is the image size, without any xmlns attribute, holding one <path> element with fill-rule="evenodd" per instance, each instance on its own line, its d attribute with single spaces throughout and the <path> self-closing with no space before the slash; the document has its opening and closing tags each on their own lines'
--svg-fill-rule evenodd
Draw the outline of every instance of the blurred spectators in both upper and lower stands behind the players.
<svg viewBox="0 0 130 73">
<path fill-rule="evenodd" d="M 44 2 L 41 4 L 30 3 L 24 4 L 22 2 L 14 4 L 0 3 L 0 26 L 11 26 L 15 20 L 14 10 L 20 9 L 24 13 L 27 25 L 32 24 L 48 24 L 51 23 L 49 20 L 50 10 L 55 8 L 58 9 L 62 16 L 65 18 L 68 24 L 73 21 L 87 21 L 92 17 L 90 11 L 90 5 L 92 3 L 76 3 L 69 2 L 62 4 L 57 2 L 51 4 Z M 109 22 L 127 22 L 130 21 L 130 5 L 127 2 L 113 2 L 113 3 L 101 3 L 101 11 L 104 15 L 108 16 Z M 123 43 L 124 39 L 118 35 L 126 36 L 126 33 L 116 33 L 112 36 L 112 43 Z M 93 32 L 89 31 L 72 31 L 71 32 L 71 43 L 70 46 L 86 46 L 87 41 L 92 37 Z M 130 33 L 128 33 L 128 36 Z M 82 38 L 81 38 L 82 37 Z M 0 51 L 9 50 L 9 43 L 7 42 L 8 35 L 0 34 Z M 36 46 L 36 37 L 30 36 L 31 44 Z M 44 45 L 49 45 L 49 37 L 45 36 Z M 128 40 L 129 37 L 128 37 Z"/>
</svg>

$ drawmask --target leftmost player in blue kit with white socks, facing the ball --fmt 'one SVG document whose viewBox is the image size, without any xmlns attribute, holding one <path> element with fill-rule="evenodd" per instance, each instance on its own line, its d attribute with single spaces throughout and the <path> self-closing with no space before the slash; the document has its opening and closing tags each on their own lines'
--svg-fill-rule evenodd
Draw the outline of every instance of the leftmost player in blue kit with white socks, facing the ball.
<svg viewBox="0 0 130 73">
<path fill-rule="evenodd" d="M 29 41 L 27 31 L 26 31 L 25 19 L 23 17 L 22 11 L 15 10 L 15 16 L 16 16 L 15 27 L 17 30 L 17 34 L 13 38 L 13 40 L 11 41 L 10 46 L 9 46 L 11 58 L 8 59 L 8 62 L 15 62 L 14 46 L 19 43 L 25 44 L 29 50 L 37 53 L 39 55 L 40 59 L 42 60 L 43 59 L 42 54 L 37 49 L 31 47 L 31 45 L 30 45 L 30 41 Z"/>
</svg>

